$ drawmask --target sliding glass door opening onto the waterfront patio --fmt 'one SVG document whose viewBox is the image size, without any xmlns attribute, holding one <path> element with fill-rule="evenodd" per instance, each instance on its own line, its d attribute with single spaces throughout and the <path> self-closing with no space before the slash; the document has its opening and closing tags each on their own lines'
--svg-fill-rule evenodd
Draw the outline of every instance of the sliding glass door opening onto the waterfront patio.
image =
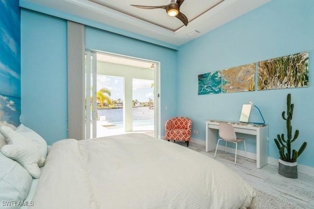
<svg viewBox="0 0 314 209">
<path fill-rule="evenodd" d="M 159 64 L 92 51 L 85 64 L 86 139 L 132 131 L 157 137 Z"/>
</svg>

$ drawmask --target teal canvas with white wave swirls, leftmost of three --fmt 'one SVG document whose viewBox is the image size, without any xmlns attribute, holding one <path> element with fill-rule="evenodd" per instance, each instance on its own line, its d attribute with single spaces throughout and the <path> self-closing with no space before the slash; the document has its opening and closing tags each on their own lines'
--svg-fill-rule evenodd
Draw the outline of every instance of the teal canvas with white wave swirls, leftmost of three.
<svg viewBox="0 0 314 209">
<path fill-rule="evenodd" d="M 198 75 L 198 95 L 221 93 L 221 70 Z"/>
</svg>

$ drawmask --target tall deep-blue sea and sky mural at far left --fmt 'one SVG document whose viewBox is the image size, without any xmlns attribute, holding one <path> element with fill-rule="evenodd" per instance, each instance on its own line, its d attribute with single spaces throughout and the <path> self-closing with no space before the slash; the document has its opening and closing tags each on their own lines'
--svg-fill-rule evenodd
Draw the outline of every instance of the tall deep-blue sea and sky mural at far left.
<svg viewBox="0 0 314 209">
<path fill-rule="evenodd" d="M 19 0 L 0 0 L 0 11 L 0 121 L 18 126 L 21 115 Z"/>
</svg>

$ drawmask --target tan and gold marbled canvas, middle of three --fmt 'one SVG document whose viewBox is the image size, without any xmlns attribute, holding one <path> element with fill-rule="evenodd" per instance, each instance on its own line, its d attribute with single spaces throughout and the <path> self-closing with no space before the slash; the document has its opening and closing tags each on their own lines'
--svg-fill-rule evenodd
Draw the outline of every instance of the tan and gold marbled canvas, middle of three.
<svg viewBox="0 0 314 209">
<path fill-rule="evenodd" d="M 222 92 L 255 90 L 255 63 L 222 70 Z"/>
</svg>

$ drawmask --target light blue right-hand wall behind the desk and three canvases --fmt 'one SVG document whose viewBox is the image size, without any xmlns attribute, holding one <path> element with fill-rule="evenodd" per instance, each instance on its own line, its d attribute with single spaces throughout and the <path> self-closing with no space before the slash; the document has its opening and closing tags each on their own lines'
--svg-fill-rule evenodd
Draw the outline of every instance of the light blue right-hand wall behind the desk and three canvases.
<svg viewBox="0 0 314 209">
<path fill-rule="evenodd" d="M 274 143 L 277 134 L 286 133 L 281 113 L 286 111 L 286 97 L 292 95 L 293 130 L 299 138 L 293 143 L 298 149 L 303 141 L 308 147 L 298 159 L 299 164 L 314 167 L 314 1 L 272 0 L 262 7 L 227 23 L 179 48 L 178 114 L 193 119 L 193 138 L 205 140 L 206 119 L 238 120 L 242 104 L 254 102 L 269 126 L 269 157 L 278 158 Z M 223 70 L 270 58 L 309 51 L 310 87 L 198 95 L 198 75 Z M 253 108 L 250 121 L 262 119 Z M 248 140 L 254 152 L 254 139 Z"/>
</svg>

